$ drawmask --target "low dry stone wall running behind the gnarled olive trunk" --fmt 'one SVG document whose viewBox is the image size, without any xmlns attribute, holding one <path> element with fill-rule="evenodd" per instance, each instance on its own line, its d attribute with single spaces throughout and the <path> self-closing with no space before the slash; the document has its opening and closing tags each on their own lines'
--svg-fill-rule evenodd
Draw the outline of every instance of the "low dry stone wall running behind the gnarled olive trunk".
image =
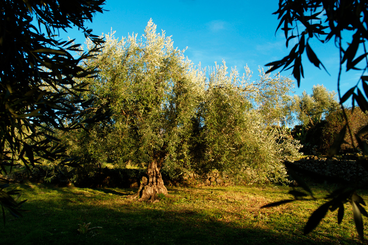
<svg viewBox="0 0 368 245">
<path fill-rule="evenodd" d="M 358 156 L 353 154 L 346 154 L 339 158 L 325 158 L 317 156 L 308 156 L 294 161 L 293 164 L 304 171 L 300 171 L 303 175 L 305 172 L 315 173 L 315 180 L 324 181 L 327 177 L 337 177 L 346 180 L 347 182 L 368 183 L 368 171 L 358 163 Z M 365 160 L 367 163 L 368 161 Z M 368 164 L 367 164 L 368 166 Z M 367 167 L 368 169 L 368 167 Z M 91 178 L 82 179 L 79 182 L 74 182 L 77 186 L 82 187 L 121 187 L 121 188 L 138 188 L 140 179 L 144 174 L 144 170 L 125 169 L 116 171 L 113 169 L 103 169 L 100 173 L 96 173 Z M 29 180 L 32 182 L 43 182 L 44 175 L 36 173 L 28 173 L 25 169 L 21 171 L 14 171 L 8 176 L 0 176 L 14 182 L 22 182 Z M 306 176 L 306 175 L 305 175 Z M 229 175 L 221 174 L 218 171 L 213 171 L 206 176 L 200 176 L 193 172 L 185 173 L 176 179 L 171 179 L 169 176 L 163 174 L 164 184 L 170 186 L 229 186 L 234 184 L 247 185 L 245 180 L 234 180 Z M 346 182 L 345 181 L 345 182 Z M 70 179 L 66 176 L 56 176 L 52 183 L 58 185 L 71 185 Z"/>
</svg>

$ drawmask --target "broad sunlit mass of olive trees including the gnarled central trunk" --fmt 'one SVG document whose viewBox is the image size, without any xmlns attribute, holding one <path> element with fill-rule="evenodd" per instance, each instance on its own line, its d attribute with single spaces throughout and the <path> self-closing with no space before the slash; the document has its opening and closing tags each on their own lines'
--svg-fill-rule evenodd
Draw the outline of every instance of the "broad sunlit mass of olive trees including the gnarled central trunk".
<svg viewBox="0 0 368 245">
<path fill-rule="evenodd" d="M 260 71 L 261 79 L 252 82 L 248 67 L 240 76 L 236 69 L 228 73 L 224 61 L 208 70 L 193 66 L 152 20 L 137 36 L 101 36 L 101 52 L 83 65 L 99 69 L 96 77 L 80 79 L 89 83 L 83 96 L 93 100 L 90 111 L 110 114 L 103 123 L 86 123 L 87 131 L 64 134 L 68 152 L 81 157 L 84 169 L 105 162 L 146 168 L 130 198 L 150 201 L 167 194 L 161 171 L 178 176 L 217 169 L 252 181 L 287 181 L 282 159 L 297 156 L 300 146 L 284 137 L 286 131 L 269 127 L 287 113 L 269 111 L 289 103 L 282 93 L 291 90 L 290 79 Z M 272 93 L 279 98 L 272 107 L 259 99 Z"/>
</svg>

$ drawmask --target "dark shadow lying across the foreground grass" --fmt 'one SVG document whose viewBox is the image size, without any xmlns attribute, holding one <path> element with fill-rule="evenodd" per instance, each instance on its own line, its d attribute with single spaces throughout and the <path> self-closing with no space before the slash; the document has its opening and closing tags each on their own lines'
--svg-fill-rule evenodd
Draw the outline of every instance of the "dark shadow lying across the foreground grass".
<svg viewBox="0 0 368 245">
<path fill-rule="evenodd" d="M 337 240 L 334 237 L 311 239 L 287 230 L 276 231 L 258 226 L 248 220 L 226 222 L 219 220 L 220 214 L 217 216 L 206 209 L 190 206 L 176 209 L 173 203 L 127 202 L 122 197 L 123 192 L 119 191 L 98 190 L 105 195 L 93 197 L 98 198 L 98 201 L 91 205 L 88 202 L 91 197 L 88 195 L 75 195 L 75 190 L 68 188 L 48 188 L 60 194 L 53 199 L 26 202 L 25 208 L 31 210 L 31 213 L 25 214 L 21 219 L 7 220 L 7 225 L 1 228 L 2 244 L 355 243 L 351 239 Z M 37 191 L 34 192 L 37 194 Z M 113 204 L 112 199 L 115 201 Z M 7 216 L 9 217 L 11 216 Z M 90 228 L 103 228 L 78 234 L 77 224 L 84 222 L 91 222 Z"/>
</svg>

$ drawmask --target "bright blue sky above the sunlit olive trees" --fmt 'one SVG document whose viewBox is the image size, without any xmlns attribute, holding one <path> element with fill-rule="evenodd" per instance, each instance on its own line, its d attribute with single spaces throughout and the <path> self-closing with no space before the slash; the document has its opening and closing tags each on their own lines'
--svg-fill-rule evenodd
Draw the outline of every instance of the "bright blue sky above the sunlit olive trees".
<svg viewBox="0 0 368 245">
<path fill-rule="evenodd" d="M 272 13 L 278 8 L 278 0 L 226 3 L 217 0 L 107 0 L 105 3 L 103 8 L 109 11 L 96 14 L 92 23 L 86 23 L 95 35 L 109 33 L 112 29 L 116 31 L 115 37 L 125 37 L 132 32 L 140 36 L 152 18 L 159 32 L 162 29 L 167 36 L 172 36 L 174 46 L 188 47 L 185 55 L 195 65 L 201 62 L 202 67 L 225 60 L 229 68 L 236 66 L 239 73 L 243 73 L 244 66 L 248 65 L 255 80 L 258 66 L 266 68 L 265 64 L 288 54 L 283 31 L 279 30 L 275 35 L 279 21 Z M 77 43 L 85 41 L 78 30 L 70 30 L 66 36 L 76 38 Z M 330 91 L 337 91 L 337 48 L 333 42 L 322 45 L 312 41 L 310 45 L 331 76 L 309 64 L 305 55 L 302 57 L 305 78 L 299 88 L 296 85 L 296 93 L 301 94 L 303 90 L 311 93 L 314 84 L 323 84 Z M 293 47 L 292 43 L 290 47 Z M 290 71 L 281 75 L 289 76 Z M 360 75 L 360 71 L 344 73 L 340 86 L 342 93 L 353 87 Z"/>
</svg>

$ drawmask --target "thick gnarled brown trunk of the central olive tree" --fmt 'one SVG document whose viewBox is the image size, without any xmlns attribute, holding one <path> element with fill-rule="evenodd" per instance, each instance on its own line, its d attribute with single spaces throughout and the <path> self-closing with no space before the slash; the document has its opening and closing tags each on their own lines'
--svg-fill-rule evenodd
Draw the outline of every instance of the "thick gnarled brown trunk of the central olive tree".
<svg viewBox="0 0 368 245">
<path fill-rule="evenodd" d="M 153 155 L 152 161 L 147 167 L 147 176 L 143 176 L 141 185 L 138 192 L 132 195 L 128 195 L 129 199 L 137 199 L 137 201 L 150 201 L 154 202 L 158 200 L 158 194 L 167 195 L 167 189 L 163 184 L 161 176 L 161 166 L 166 156 L 166 152 L 160 151 Z"/>
</svg>

